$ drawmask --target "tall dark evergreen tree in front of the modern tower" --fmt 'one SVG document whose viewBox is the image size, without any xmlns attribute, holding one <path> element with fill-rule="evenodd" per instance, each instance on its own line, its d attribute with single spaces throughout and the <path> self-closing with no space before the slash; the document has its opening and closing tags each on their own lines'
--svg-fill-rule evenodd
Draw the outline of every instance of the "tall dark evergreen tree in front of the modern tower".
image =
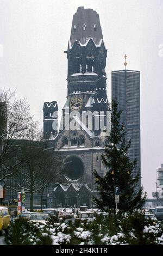
<svg viewBox="0 0 163 256">
<path fill-rule="evenodd" d="M 102 155 L 102 161 L 108 170 L 104 178 L 93 170 L 96 190 L 99 194 L 99 198 L 93 198 L 93 200 L 99 209 L 115 209 L 115 185 L 118 185 L 120 186 L 118 209 L 131 212 L 145 204 L 146 193 L 144 194 L 143 187 L 138 192 L 135 190 L 140 175 L 137 173 L 133 177 L 136 159 L 131 161 L 128 156 L 131 141 L 126 142 L 124 124 L 120 124 L 122 110 L 118 110 L 118 102 L 113 100 L 111 105 L 111 132 L 106 137 Z"/>
</svg>

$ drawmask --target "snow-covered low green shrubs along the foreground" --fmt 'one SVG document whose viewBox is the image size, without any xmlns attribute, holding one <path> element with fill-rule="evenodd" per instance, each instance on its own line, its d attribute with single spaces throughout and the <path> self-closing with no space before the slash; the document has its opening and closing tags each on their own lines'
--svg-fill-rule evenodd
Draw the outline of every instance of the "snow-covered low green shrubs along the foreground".
<svg viewBox="0 0 163 256">
<path fill-rule="evenodd" d="M 96 220 L 68 224 L 20 218 L 11 224 L 6 240 L 10 245 L 163 245 L 163 222 L 154 224 L 137 212 L 98 214 Z"/>
</svg>

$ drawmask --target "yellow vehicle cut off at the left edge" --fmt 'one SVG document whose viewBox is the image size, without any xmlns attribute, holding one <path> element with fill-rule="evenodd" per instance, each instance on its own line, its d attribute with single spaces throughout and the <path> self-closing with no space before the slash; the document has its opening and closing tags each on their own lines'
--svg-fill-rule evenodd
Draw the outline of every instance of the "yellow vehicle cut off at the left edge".
<svg viewBox="0 0 163 256">
<path fill-rule="evenodd" d="M 5 206 L 0 206 L 0 235 L 3 233 L 3 230 L 5 233 L 8 232 L 9 225 L 10 215 L 8 208 Z"/>
</svg>

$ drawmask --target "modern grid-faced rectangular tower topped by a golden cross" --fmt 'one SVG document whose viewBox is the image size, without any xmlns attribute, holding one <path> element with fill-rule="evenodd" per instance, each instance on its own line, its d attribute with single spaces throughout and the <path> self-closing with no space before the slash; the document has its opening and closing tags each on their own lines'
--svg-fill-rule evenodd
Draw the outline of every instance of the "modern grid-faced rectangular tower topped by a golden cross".
<svg viewBox="0 0 163 256">
<path fill-rule="evenodd" d="M 126 64 L 126 63 L 125 63 Z M 119 103 L 122 109 L 121 123 L 126 127 L 126 140 L 131 139 L 129 149 L 130 160 L 137 159 L 133 177 L 137 173 L 141 176 L 141 151 L 140 151 L 140 71 L 118 70 L 111 73 L 111 97 Z M 140 189 L 140 182 L 136 190 Z"/>
</svg>

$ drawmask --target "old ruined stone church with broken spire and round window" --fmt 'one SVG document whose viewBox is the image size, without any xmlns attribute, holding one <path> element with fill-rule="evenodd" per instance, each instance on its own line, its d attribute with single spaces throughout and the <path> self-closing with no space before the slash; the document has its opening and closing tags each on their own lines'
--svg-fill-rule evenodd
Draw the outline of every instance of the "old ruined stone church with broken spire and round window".
<svg viewBox="0 0 163 256">
<path fill-rule="evenodd" d="M 43 105 L 45 139 L 48 135 L 54 151 L 60 151 L 65 159 L 64 182 L 54 186 L 53 206 L 84 203 L 91 206 L 95 189 L 92 171 L 96 169 L 100 175 L 105 174 L 101 154 L 104 138 L 109 133 L 107 50 L 96 11 L 84 7 L 77 9 L 65 53 L 68 60 L 67 98 L 58 133 L 57 105 L 52 102 Z"/>
</svg>

